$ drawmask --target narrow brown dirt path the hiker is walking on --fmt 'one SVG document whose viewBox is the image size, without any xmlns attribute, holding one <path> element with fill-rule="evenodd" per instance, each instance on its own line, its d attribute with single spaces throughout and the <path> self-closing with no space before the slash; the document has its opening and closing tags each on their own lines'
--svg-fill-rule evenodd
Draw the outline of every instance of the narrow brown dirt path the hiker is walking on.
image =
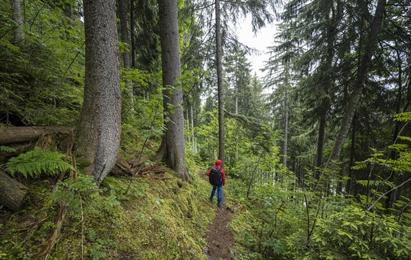
<svg viewBox="0 0 411 260">
<path fill-rule="evenodd" d="M 208 177 L 203 174 L 203 171 L 200 171 L 199 175 L 201 178 L 208 181 Z M 210 192 L 211 190 L 212 187 L 210 185 Z M 214 207 L 217 207 L 216 196 L 213 199 L 213 205 Z M 208 238 L 204 251 L 209 260 L 232 259 L 231 251 L 234 235 L 231 229 L 229 229 L 228 223 L 233 220 L 233 214 L 232 209 L 229 209 L 229 207 L 226 206 L 223 188 L 221 207 L 217 207 L 217 216 L 208 228 L 207 233 Z"/>
</svg>

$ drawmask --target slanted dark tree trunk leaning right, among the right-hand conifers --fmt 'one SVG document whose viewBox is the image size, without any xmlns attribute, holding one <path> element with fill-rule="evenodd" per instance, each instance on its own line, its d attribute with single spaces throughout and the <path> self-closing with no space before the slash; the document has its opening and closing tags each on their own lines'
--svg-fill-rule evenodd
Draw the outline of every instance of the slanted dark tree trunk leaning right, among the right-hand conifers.
<svg viewBox="0 0 411 260">
<path fill-rule="evenodd" d="M 345 139 L 347 138 L 347 133 L 351 127 L 354 112 L 356 112 L 358 102 L 360 101 L 360 97 L 362 95 L 362 89 L 364 88 L 364 83 L 371 64 L 371 58 L 373 57 L 375 45 L 377 44 L 377 38 L 381 29 L 385 5 L 386 0 L 378 1 L 377 8 L 375 9 L 373 23 L 371 23 L 371 29 L 367 37 L 366 47 L 360 60 L 360 66 L 358 68 L 354 90 L 351 93 L 351 99 L 347 105 L 347 109 L 345 110 L 338 137 L 336 139 L 336 142 L 334 143 L 332 152 L 328 157 L 326 166 L 330 166 L 333 161 L 336 161 L 340 157 L 341 149 L 343 148 Z"/>
</svg>

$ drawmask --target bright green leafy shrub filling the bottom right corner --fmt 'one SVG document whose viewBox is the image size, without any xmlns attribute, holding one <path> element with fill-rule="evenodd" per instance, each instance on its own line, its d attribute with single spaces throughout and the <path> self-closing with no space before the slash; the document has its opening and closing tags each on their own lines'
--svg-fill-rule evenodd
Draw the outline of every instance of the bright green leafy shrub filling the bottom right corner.
<svg viewBox="0 0 411 260">
<path fill-rule="evenodd" d="M 411 229 L 393 216 L 350 205 L 321 218 L 307 255 L 319 259 L 408 259 Z"/>
</svg>

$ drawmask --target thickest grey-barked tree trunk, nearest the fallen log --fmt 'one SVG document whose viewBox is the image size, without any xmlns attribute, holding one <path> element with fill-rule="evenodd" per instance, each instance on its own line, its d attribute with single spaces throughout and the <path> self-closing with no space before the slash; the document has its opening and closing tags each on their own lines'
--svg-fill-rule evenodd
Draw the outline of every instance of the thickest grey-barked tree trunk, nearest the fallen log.
<svg viewBox="0 0 411 260">
<path fill-rule="evenodd" d="M 84 0 L 86 77 L 75 153 L 97 185 L 116 164 L 120 146 L 121 93 L 115 1 Z"/>
</svg>

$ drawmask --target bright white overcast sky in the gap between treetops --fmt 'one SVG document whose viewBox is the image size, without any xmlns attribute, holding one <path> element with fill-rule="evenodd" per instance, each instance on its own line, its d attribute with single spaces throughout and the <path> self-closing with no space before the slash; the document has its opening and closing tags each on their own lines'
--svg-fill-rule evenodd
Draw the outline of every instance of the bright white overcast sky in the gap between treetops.
<svg viewBox="0 0 411 260">
<path fill-rule="evenodd" d="M 266 51 L 268 51 L 267 47 L 273 46 L 275 25 L 267 25 L 260 29 L 257 34 L 254 34 L 251 29 L 251 18 L 247 17 L 243 23 L 237 25 L 236 33 L 240 42 L 261 52 L 260 55 L 249 55 L 248 60 L 258 77 L 263 77 L 264 74 L 260 69 L 264 68 L 264 62 L 269 60 Z"/>
</svg>

